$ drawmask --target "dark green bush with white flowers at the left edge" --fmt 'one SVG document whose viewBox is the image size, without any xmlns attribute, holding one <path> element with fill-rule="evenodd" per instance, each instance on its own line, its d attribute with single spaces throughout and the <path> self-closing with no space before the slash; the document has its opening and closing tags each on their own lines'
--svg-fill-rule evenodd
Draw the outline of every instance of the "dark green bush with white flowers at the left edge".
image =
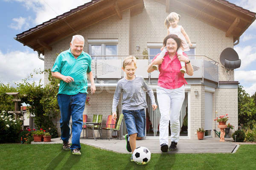
<svg viewBox="0 0 256 170">
<path fill-rule="evenodd" d="M 21 121 L 15 120 L 12 115 L 6 115 L 2 112 L 0 116 L 0 143 L 19 142 L 19 133 L 21 130 Z"/>
</svg>

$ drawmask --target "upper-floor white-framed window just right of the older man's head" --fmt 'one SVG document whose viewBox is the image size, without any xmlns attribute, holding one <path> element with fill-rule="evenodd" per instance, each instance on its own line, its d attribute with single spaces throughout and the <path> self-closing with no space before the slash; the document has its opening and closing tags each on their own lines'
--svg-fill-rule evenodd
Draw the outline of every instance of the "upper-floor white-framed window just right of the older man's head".
<svg viewBox="0 0 256 170">
<path fill-rule="evenodd" d="M 117 55 L 117 43 L 118 40 L 106 39 L 106 40 L 88 40 L 89 43 L 89 55 L 92 59 L 118 59 Z M 109 56 L 102 56 L 109 55 Z M 96 57 L 102 56 L 102 57 Z"/>
</svg>

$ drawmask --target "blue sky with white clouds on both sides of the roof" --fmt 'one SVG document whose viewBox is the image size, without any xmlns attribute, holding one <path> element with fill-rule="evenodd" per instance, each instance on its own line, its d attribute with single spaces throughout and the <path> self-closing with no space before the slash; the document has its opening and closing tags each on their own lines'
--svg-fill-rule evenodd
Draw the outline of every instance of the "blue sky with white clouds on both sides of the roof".
<svg viewBox="0 0 256 170">
<path fill-rule="evenodd" d="M 0 0 L 0 82 L 19 82 L 34 69 L 44 68 L 37 52 L 14 40 L 17 34 L 43 23 L 90 0 Z M 237 6 L 256 12 L 256 0 L 229 0 Z M 234 47 L 241 59 L 241 67 L 235 70 L 239 81 L 250 94 L 256 92 L 256 21 L 240 37 Z M 35 76 L 39 81 L 42 76 Z"/>
</svg>

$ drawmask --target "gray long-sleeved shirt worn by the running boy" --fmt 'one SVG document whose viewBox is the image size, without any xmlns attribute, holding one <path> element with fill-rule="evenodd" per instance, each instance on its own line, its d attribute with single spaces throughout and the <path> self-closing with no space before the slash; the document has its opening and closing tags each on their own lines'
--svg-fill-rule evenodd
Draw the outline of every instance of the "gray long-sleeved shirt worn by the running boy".
<svg viewBox="0 0 256 170">
<path fill-rule="evenodd" d="M 143 87 L 148 93 L 151 104 L 156 104 L 153 90 L 144 81 L 143 77 L 135 76 L 133 80 L 122 78 L 118 81 L 113 97 L 112 112 L 116 112 L 116 106 L 122 92 L 122 109 L 139 110 L 147 108 L 146 96 Z"/>
</svg>

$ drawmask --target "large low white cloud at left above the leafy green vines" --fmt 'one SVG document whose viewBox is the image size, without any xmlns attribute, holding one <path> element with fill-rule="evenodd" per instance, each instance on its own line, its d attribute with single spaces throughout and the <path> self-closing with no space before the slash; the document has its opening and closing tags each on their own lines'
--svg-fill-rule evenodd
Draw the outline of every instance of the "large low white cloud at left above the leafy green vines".
<svg viewBox="0 0 256 170">
<path fill-rule="evenodd" d="M 44 61 L 40 60 L 37 52 L 12 51 L 3 54 L 0 51 L 0 82 L 14 84 L 27 78 L 34 69 L 44 69 Z M 43 81 L 43 75 L 34 75 L 32 81 Z"/>
</svg>

